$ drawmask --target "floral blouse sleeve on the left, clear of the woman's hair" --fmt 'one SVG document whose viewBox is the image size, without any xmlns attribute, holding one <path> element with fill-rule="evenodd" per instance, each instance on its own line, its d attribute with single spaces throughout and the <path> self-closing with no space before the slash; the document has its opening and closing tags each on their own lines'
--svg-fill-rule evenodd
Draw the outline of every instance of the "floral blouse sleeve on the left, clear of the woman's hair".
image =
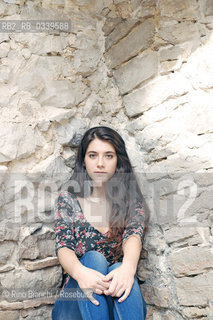
<svg viewBox="0 0 213 320">
<path fill-rule="evenodd" d="M 73 207 L 68 193 L 61 193 L 55 205 L 56 254 L 60 248 L 75 250 Z"/>
</svg>

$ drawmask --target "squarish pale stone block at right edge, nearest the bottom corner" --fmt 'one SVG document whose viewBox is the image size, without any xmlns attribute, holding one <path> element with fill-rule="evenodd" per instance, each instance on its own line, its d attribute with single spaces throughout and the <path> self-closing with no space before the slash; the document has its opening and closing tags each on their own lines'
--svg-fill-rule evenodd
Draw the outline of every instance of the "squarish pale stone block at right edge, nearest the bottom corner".
<svg viewBox="0 0 213 320">
<path fill-rule="evenodd" d="M 175 280 L 177 297 L 182 306 L 206 306 L 213 301 L 213 271 Z"/>
</svg>

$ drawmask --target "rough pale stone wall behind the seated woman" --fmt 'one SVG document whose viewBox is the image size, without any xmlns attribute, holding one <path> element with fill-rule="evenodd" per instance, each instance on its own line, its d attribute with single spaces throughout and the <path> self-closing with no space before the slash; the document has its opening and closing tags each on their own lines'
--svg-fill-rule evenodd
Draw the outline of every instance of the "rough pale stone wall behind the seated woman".
<svg viewBox="0 0 213 320">
<path fill-rule="evenodd" d="M 0 33 L 0 318 L 51 319 L 54 200 L 82 134 L 108 125 L 150 208 L 147 319 L 213 319 L 213 2 L 4 0 L 0 18 L 71 21 Z"/>
</svg>

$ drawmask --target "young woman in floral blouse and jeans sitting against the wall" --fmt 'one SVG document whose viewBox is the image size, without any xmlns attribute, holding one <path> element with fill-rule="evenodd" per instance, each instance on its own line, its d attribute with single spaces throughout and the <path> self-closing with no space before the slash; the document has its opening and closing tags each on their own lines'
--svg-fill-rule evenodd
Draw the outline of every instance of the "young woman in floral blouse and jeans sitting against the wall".
<svg viewBox="0 0 213 320">
<path fill-rule="evenodd" d="M 83 136 L 67 192 L 56 204 L 56 250 L 66 279 L 53 320 L 143 320 L 136 277 L 146 210 L 121 136 Z"/>
</svg>

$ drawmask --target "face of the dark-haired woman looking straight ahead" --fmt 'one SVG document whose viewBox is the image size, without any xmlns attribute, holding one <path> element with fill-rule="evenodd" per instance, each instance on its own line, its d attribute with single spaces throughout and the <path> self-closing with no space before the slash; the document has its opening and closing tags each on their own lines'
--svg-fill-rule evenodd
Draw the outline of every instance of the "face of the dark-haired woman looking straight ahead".
<svg viewBox="0 0 213 320">
<path fill-rule="evenodd" d="M 102 185 L 114 175 L 117 167 L 114 146 L 106 140 L 95 138 L 87 147 L 84 164 L 94 183 Z"/>
</svg>

